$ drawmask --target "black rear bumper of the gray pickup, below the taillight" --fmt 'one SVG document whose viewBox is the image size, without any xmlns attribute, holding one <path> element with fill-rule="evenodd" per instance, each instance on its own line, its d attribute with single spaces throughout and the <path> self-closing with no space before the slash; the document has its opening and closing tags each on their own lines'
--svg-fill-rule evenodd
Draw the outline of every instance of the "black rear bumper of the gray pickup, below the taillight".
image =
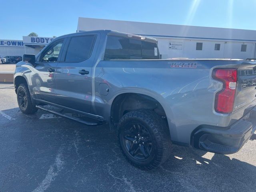
<svg viewBox="0 0 256 192">
<path fill-rule="evenodd" d="M 248 111 L 230 127 L 199 126 L 192 133 L 193 148 L 220 154 L 238 152 L 256 130 L 256 107 Z"/>
</svg>

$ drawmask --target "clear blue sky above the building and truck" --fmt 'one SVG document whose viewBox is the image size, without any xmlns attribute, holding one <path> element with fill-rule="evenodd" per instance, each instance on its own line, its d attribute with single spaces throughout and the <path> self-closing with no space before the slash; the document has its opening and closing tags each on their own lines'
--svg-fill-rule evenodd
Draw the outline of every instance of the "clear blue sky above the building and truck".
<svg viewBox="0 0 256 192">
<path fill-rule="evenodd" d="M 256 30 L 256 0 L 1 0 L 0 39 L 74 33 L 78 17 Z"/>
</svg>

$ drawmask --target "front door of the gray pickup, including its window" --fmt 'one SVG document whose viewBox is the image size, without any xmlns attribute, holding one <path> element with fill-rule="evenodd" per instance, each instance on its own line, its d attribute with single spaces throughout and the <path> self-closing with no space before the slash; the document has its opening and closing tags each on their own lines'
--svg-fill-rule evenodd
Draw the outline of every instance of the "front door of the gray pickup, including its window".
<svg viewBox="0 0 256 192">
<path fill-rule="evenodd" d="M 30 74 L 33 98 L 56 103 L 55 74 L 64 43 L 64 38 L 52 41 L 37 56 Z"/>
</svg>

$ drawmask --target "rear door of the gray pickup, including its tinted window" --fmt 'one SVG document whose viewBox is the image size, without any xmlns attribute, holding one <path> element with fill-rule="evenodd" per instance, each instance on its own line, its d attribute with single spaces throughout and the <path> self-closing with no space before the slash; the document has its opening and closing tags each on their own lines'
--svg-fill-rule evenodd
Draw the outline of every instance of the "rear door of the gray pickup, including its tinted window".
<svg viewBox="0 0 256 192">
<path fill-rule="evenodd" d="M 58 104 L 82 112 L 90 112 L 92 97 L 92 65 L 94 46 L 99 34 L 72 34 L 56 68 Z"/>
</svg>

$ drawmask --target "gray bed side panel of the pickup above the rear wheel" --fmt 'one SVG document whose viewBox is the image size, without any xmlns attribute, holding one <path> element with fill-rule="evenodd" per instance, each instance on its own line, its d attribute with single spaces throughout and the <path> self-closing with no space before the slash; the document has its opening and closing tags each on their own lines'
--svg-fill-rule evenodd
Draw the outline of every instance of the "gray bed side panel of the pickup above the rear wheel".
<svg viewBox="0 0 256 192">
<path fill-rule="evenodd" d="M 171 67 L 186 62 L 192 67 Z M 95 69 L 95 114 L 109 119 L 111 104 L 122 93 L 140 93 L 160 102 L 165 110 L 172 140 L 189 143 L 191 132 L 201 124 L 228 126 L 231 116 L 214 112 L 215 94 L 222 83 L 213 80 L 214 67 L 236 67 L 236 61 L 222 60 L 118 60 L 100 61 Z M 109 86 L 108 95 L 99 93 L 100 83 Z"/>
</svg>

